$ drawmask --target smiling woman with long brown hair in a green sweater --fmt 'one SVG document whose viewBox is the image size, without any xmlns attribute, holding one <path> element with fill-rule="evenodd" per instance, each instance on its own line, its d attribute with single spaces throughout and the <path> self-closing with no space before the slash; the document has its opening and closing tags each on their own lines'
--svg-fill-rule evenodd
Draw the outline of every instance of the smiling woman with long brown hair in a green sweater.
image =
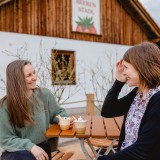
<svg viewBox="0 0 160 160">
<path fill-rule="evenodd" d="M 7 94 L 0 101 L 1 159 L 51 160 L 44 133 L 50 123 L 58 123 L 57 115 L 68 114 L 48 89 L 36 87 L 37 75 L 31 62 L 11 62 L 6 75 Z"/>
</svg>

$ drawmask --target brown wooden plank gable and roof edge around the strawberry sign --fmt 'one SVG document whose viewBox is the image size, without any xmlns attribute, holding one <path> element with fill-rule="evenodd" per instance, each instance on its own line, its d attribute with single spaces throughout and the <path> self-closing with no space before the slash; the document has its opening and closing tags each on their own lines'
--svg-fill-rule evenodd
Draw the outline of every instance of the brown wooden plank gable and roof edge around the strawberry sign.
<svg viewBox="0 0 160 160">
<path fill-rule="evenodd" d="M 0 31 L 101 43 L 160 45 L 160 28 L 138 0 L 100 0 L 101 34 L 72 31 L 72 0 L 0 0 Z"/>
</svg>

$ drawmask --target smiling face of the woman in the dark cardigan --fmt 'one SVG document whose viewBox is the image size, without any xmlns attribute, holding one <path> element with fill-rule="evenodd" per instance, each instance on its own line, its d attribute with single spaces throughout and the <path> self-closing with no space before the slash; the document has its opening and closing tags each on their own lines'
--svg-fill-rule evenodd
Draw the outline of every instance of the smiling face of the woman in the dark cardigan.
<svg viewBox="0 0 160 160">
<path fill-rule="evenodd" d="M 138 75 L 137 70 L 135 70 L 135 68 L 130 63 L 124 60 L 122 64 L 124 65 L 123 74 L 127 78 L 126 83 L 128 84 L 128 86 L 139 87 L 140 80 L 139 80 L 139 75 Z"/>
</svg>

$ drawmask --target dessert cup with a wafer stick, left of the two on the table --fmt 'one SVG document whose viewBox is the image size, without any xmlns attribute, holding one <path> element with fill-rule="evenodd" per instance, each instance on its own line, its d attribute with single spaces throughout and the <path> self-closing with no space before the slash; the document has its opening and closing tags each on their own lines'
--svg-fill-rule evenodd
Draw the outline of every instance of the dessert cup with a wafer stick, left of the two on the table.
<svg viewBox="0 0 160 160">
<path fill-rule="evenodd" d="M 70 117 L 61 117 L 60 115 L 56 116 L 59 119 L 59 125 L 61 130 L 68 130 L 70 127 Z"/>
</svg>

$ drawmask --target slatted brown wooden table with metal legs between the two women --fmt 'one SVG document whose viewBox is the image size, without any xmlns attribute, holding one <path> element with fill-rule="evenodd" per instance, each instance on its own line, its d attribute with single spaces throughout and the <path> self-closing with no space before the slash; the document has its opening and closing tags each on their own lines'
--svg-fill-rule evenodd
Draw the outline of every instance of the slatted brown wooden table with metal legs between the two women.
<svg viewBox="0 0 160 160">
<path fill-rule="evenodd" d="M 80 140 L 82 151 L 84 152 L 86 158 L 91 160 L 92 158 L 88 154 L 84 140 L 86 139 L 88 145 L 90 146 L 95 158 L 99 155 L 93 148 L 90 143 L 89 138 L 108 138 L 113 139 L 113 143 L 116 139 L 119 139 L 120 129 L 122 127 L 123 116 L 115 118 L 103 118 L 101 116 L 85 116 L 84 119 L 87 119 L 87 127 L 84 134 L 76 134 L 74 127 L 72 129 L 62 131 L 58 124 L 53 124 L 46 131 L 45 136 L 47 138 L 51 137 L 65 137 L 65 138 L 74 138 L 77 137 Z"/>
</svg>

